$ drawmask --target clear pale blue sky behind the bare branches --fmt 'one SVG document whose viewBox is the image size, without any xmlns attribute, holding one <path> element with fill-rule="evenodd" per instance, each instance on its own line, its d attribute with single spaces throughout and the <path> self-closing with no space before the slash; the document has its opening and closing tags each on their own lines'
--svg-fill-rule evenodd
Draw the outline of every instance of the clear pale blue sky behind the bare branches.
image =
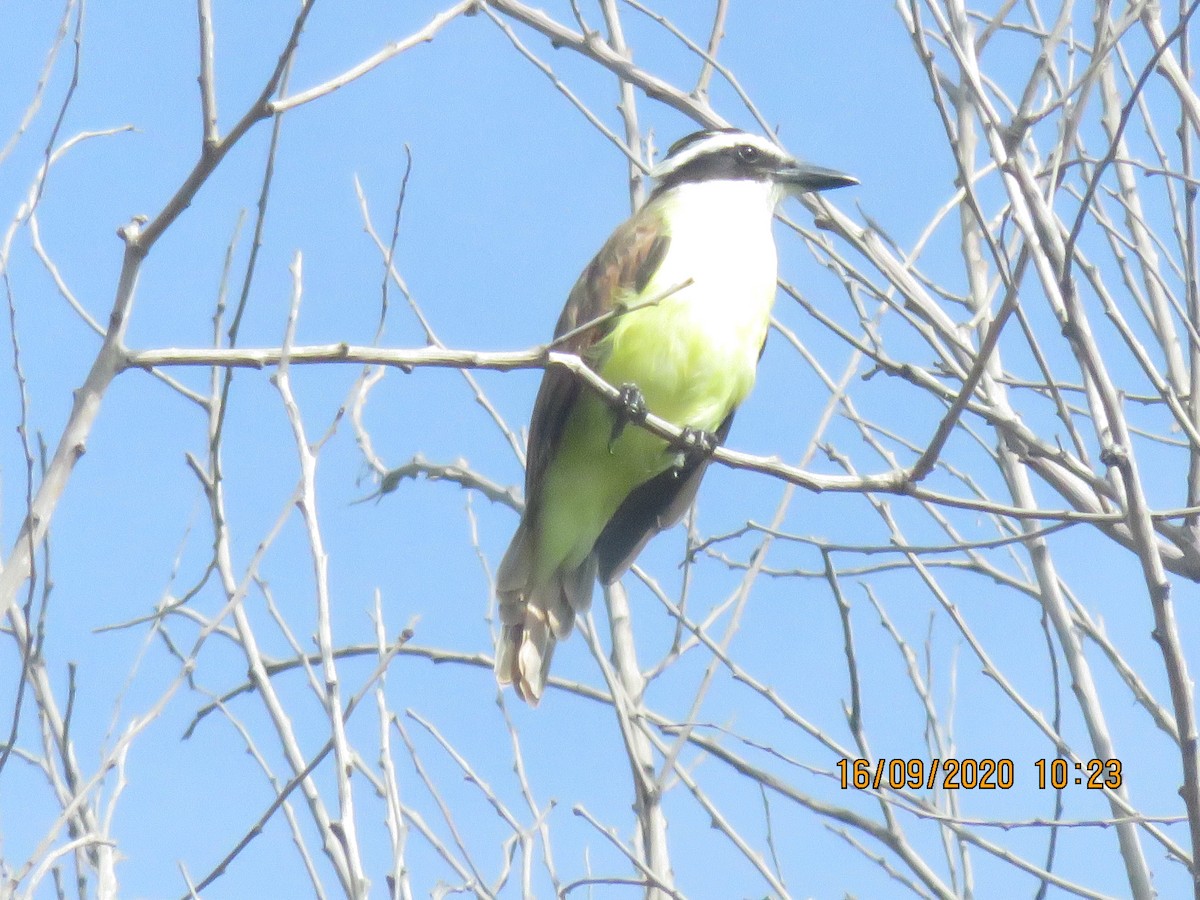
<svg viewBox="0 0 1200 900">
<path fill-rule="evenodd" d="M 295 5 L 218 1 L 215 6 L 220 125 L 224 131 L 260 90 L 283 44 Z M 439 8 L 430 2 L 371 0 L 318 5 L 296 56 L 293 90 L 349 68 L 388 42 L 408 35 Z M 546 8 L 556 18 L 572 23 L 568 4 L 547 2 Z M 630 7 L 622 10 L 636 61 L 690 86 L 697 70 L 695 58 L 650 19 Z M 694 40 L 707 41 L 710 4 L 664 4 L 662 12 Z M 588 7 L 586 14 L 595 25 L 602 22 L 594 8 Z M 0 54 L 0 84 L 6 85 L 0 89 L 0 146 L 16 130 L 32 96 L 58 16 L 58 11 L 34 5 L 0 4 L 0 34 L 7 37 L 5 53 Z M 122 125 L 132 125 L 133 130 L 86 140 L 67 154 L 46 185 L 38 217 L 42 239 L 62 277 L 101 322 L 107 318 L 120 269 L 121 246 L 115 229 L 132 216 L 156 214 L 198 152 L 196 29 L 196 12 L 187 5 L 114 0 L 86 7 L 79 86 L 64 119 L 60 143 L 83 131 Z M 911 247 L 952 196 L 955 172 L 942 124 L 929 100 L 929 83 L 896 13 L 888 5 L 869 0 L 734 2 L 727 32 L 722 62 L 736 72 L 766 120 L 778 125 L 787 148 L 860 179 L 860 187 L 839 192 L 833 202 L 864 223 L 868 218 L 878 223 L 901 248 Z M 608 127 L 620 131 L 617 82 L 610 73 L 570 50 L 551 49 L 529 31 L 518 29 L 518 34 Z M 998 41 L 997 78 L 1010 76 L 1019 84 L 1027 52 L 1019 37 Z M 0 163 L 0 221 L 13 215 L 40 164 L 67 90 L 70 53 L 68 43 L 62 49 L 65 61 L 53 71 L 44 108 L 12 155 Z M 641 94 L 637 102 L 643 130 L 653 130 L 658 148 L 695 127 L 678 112 Z M 720 78 L 714 79 L 712 103 L 733 124 L 755 127 L 754 119 Z M 269 124 L 248 134 L 155 247 L 138 289 L 128 331 L 131 347 L 211 346 L 214 307 L 227 252 L 232 259 L 230 305 L 245 271 L 269 137 Z M 514 52 L 486 16 L 458 19 L 433 43 L 416 47 L 336 94 L 284 116 L 242 346 L 280 343 L 292 292 L 288 266 L 296 253 L 304 258 L 296 341 L 372 340 L 379 318 L 383 264 L 362 229 L 355 180 L 370 204 L 374 227 L 389 234 L 406 148 L 412 152 L 413 167 L 396 266 L 449 347 L 521 349 L 545 341 L 577 272 L 629 214 L 623 157 L 544 74 Z M 785 211 L 802 224 L 810 224 L 811 217 L 799 205 L 792 204 Z M 994 214 L 995 209 L 989 211 Z M 858 317 L 846 292 L 821 264 L 820 254 L 809 252 L 781 226 L 776 233 L 781 277 L 857 331 Z M 950 290 L 962 292 L 966 280 L 958 244 L 956 227 L 943 226 L 922 265 Z M 852 253 L 845 245 L 839 250 Z M 68 414 L 71 391 L 86 374 L 100 341 L 55 292 L 30 248 L 28 229 L 18 233 L 13 242 L 8 277 L 20 361 L 29 384 L 31 428 L 53 445 Z M 424 334 L 395 288 L 390 298 L 383 343 L 422 346 Z M 786 298 L 781 296 L 776 312 L 785 325 L 803 336 L 820 364 L 839 377 L 850 348 Z M 962 316 L 962 310 L 954 308 L 952 314 Z M 1044 311 L 1031 310 L 1031 316 L 1046 324 Z M 888 329 L 888 347 L 894 354 L 917 365 L 930 362 L 928 348 L 911 334 L 892 320 Z M 1052 322 L 1048 334 L 1052 335 Z M 1130 367 L 1115 365 L 1129 376 L 1134 390 L 1145 390 Z M 13 424 L 18 415 L 17 385 L 10 362 L 2 368 L 0 415 Z M 356 366 L 294 368 L 294 388 L 310 439 L 323 434 L 334 421 L 359 372 Z M 209 389 L 208 370 L 173 374 L 193 390 Z M 226 490 L 232 550 L 235 565 L 241 568 L 286 511 L 298 478 L 288 422 L 269 378 L 270 372 L 238 372 L 228 409 Z M 476 378 L 508 425 L 514 430 L 524 427 L 538 373 L 480 372 Z M 918 445 L 928 439 L 942 412 L 928 396 L 906 390 L 895 379 L 856 378 L 851 391 L 865 415 Z M 760 385 L 739 413 L 730 443 L 748 452 L 797 462 L 827 400 L 820 379 L 776 334 L 762 361 Z M 1031 413 L 1039 414 L 1049 419 L 1044 410 Z M 401 466 L 419 454 L 434 463 L 464 461 L 504 486 L 521 484 L 520 461 L 454 371 L 389 372 L 370 396 L 365 424 L 385 464 Z M 22 448 L 13 434 L 8 427 L 0 439 L 0 533 L 6 547 L 19 528 L 25 494 Z M 844 420 L 835 420 L 823 439 L 850 454 L 862 472 L 886 468 Z M 997 492 L 1001 488 L 995 472 L 980 462 L 995 436 L 985 434 L 982 443 L 984 449 L 972 449 L 966 439 L 955 443 L 954 460 L 979 473 L 985 490 Z M 202 577 L 211 558 L 211 526 L 186 455 L 203 458 L 205 444 L 206 420 L 196 404 L 148 374 L 122 373 L 104 398 L 88 452 L 58 506 L 52 529 L 53 592 L 46 613 L 44 652 L 62 697 L 67 666 L 77 666 L 73 733 L 83 768 L 89 773 L 113 745 L 114 734 L 152 709 L 179 674 L 178 659 L 148 624 L 118 631 L 97 629 L 144 617 L 164 593 L 178 595 Z M 1165 468 L 1165 454 L 1148 460 L 1154 502 L 1183 505 L 1178 481 Z M 1162 475 L 1156 469 L 1159 463 L 1164 467 Z M 821 452 L 812 457 L 811 468 L 839 472 Z M 932 482 L 938 490 L 962 491 L 961 485 L 941 474 Z M 516 524 L 515 512 L 451 484 L 424 479 L 403 482 L 377 503 L 354 503 L 373 490 L 352 425 L 343 419 L 322 450 L 318 475 L 337 643 L 353 646 L 373 640 L 371 613 L 379 592 L 389 634 L 415 622 L 414 643 L 458 654 L 488 654 L 488 575 L 494 572 Z M 697 528 L 701 534 L 714 535 L 732 532 L 748 520 L 769 522 L 782 490 L 770 479 L 713 467 L 701 492 Z M 1052 498 L 1046 502 L 1054 504 Z M 887 503 L 908 540 L 944 541 L 944 534 L 912 504 L 900 498 Z M 983 516 L 960 511 L 947 515 L 968 538 L 995 535 Z M 844 542 L 886 544 L 889 538 L 869 504 L 850 496 L 798 492 L 782 527 L 790 533 Z M 1114 544 L 1086 528 L 1069 529 L 1054 540 L 1063 578 L 1081 604 L 1104 622 L 1106 632 L 1120 640 L 1130 665 L 1165 703 L 1160 658 L 1148 638 L 1153 623 L 1133 557 L 1123 556 Z M 672 598 L 680 589 L 684 541 L 683 529 L 674 529 L 658 538 L 641 560 Z M 740 538 L 721 548 L 744 564 L 755 546 L 752 538 Z M 1006 571 L 1015 572 L 1024 564 L 1024 559 L 1014 563 L 1002 557 L 1000 552 L 997 565 Z M 835 559 L 847 566 L 877 562 L 874 557 Z M 786 572 L 820 570 L 821 562 L 810 546 L 781 541 L 773 545 L 767 564 Z M 312 564 L 298 516 L 290 517 L 271 546 L 262 577 L 292 631 L 304 647 L 311 648 L 316 628 Z M 690 608 L 702 618 L 702 611 L 719 605 L 737 587 L 739 572 L 731 572 L 719 559 L 704 558 L 690 577 L 695 581 Z M 1049 718 L 1054 677 L 1038 605 L 977 575 L 946 572 L 938 578 L 1000 668 Z M 674 625 L 649 590 L 632 578 L 628 583 L 640 653 L 647 662 L 671 646 Z M 920 656 L 918 667 L 930 679 L 932 697 L 942 714 L 953 718 L 958 752 L 1015 762 L 1018 787 L 986 794 L 964 792 L 962 815 L 1050 817 L 1054 794 L 1033 785 L 1033 762 L 1052 757 L 1052 745 L 995 689 L 994 680 L 982 672 L 964 638 L 911 570 L 869 578 L 847 575 L 842 580 L 853 610 L 872 752 L 887 758 L 929 755 L 920 704 L 907 685 L 905 662 L 895 643 L 880 626 L 865 583 Z M 215 583 L 208 584 L 191 601 L 198 613 L 212 616 L 221 610 L 223 596 L 216 588 Z M 1194 588 L 1181 583 L 1178 594 L 1181 628 L 1194 638 L 1196 617 L 1186 606 Z M 258 592 L 247 601 L 247 612 L 258 625 L 264 654 L 290 656 Z M 599 592 L 596 613 L 607 641 Z M 168 630 L 184 647 L 196 636 L 194 622 L 182 617 L 173 620 Z M 722 630 L 724 624 L 715 634 Z M 0 709 L 8 709 L 7 685 L 16 683 L 19 660 L 11 642 L 2 647 L 0 685 L 5 686 L 0 688 Z M 851 745 L 842 712 L 848 697 L 844 632 L 827 583 L 810 577 L 760 578 L 731 652 L 806 720 Z M 1152 814 L 1177 815 L 1177 755 L 1129 701 L 1120 678 L 1094 648 L 1088 650 L 1088 658 L 1097 667 L 1117 746 L 1129 752 L 1128 779 L 1138 806 Z M 690 691 L 708 662 L 701 652 L 685 656 L 655 685 L 652 704 L 666 715 L 685 716 Z M 347 694 L 358 690 L 373 667 L 370 659 L 347 660 L 341 670 Z M 181 739 L 210 695 L 238 686 L 245 672 L 246 661 L 233 642 L 220 635 L 211 638 L 198 660 L 196 689 L 174 695 L 134 743 L 125 763 L 127 786 L 119 787 L 112 774 L 106 781 L 101 805 L 121 791 L 112 835 L 124 858 L 118 871 L 126 896 L 181 895 L 186 888 L 179 866 L 186 866 L 192 877 L 202 877 L 270 803 L 270 787 L 227 720 L 208 716 L 190 739 Z M 578 636 L 559 649 L 554 672 L 604 685 Z M 1061 673 L 1060 679 L 1060 689 L 1069 700 L 1070 685 Z M 304 677 L 295 672 L 281 676 L 277 688 L 289 703 L 305 750 L 314 751 L 328 737 L 328 721 Z M 510 737 L 496 704 L 490 671 L 400 658 L 389 670 L 386 690 L 390 707 L 410 732 L 431 778 L 456 810 L 468 844 L 494 877 L 506 832 L 431 736 L 415 720 L 404 718 L 410 709 L 434 722 L 498 794 L 522 810 L 523 821 L 528 820 L 514 780 Z M 262 706 L 242 697 L 232 709 L 262 739 L 260 751 L 275 770 L 284 773 Z M 1062 731 L 1086 755 L 1086 732 L 1070 709 L 1068 702 Z M 588 865 L 602 872 L 622 871 L 622 860 L 607 842 L 571 815 L 575 806 L 583 806 L 623 839 L 629 840 L 632 833 L 628 762 L 611 710 L 580 697 L 552 694 L 536 710 L 521 707 L 508 695 L 506 712 L 516 724 L 535 796 L 540 803 L 551 798 L 557 802 L 551 824 L 562 880 L 581 877 Z M 368 764 L 377 762 L 378 754 L 374 715 L 373 709 L 364 708 L 350 726 L 364 756 L 371 757 Z M 748 697 L 727 676 L 714 688 L 700 720 L 714 726 L 714 737 L 720 733 L 715 726 L 736 728 L 770 744 L 790 760 L 822 770 L 833 767 L 833 754 L 800 730 L 782 724 L 778 713 Z M 38 745 L 37 722 L 28 709 L 20 743 Z M 781 776 L 800 791 L 864 815 L 878 815 L 870 798 L 833 788 L 824 776 L 737 742 L 731 745 L 763 766 L 778 767 Z M 420 809 L 444 835 L 436 806 L 396 738 L 392 750 L 404 800 Z M 702 779 L 714 802 L 756 846 L 764 848 L 766 824 L 757 790 L 714 758 L 695 755 L 694 750 L 688 754 L 690 770 Z M 326 796 L 332 796 L 328 766 L 316 778 Z M 367 868 L 382 889 L 388 871 L 382 808 L 364 781 L 355 784 L 362 794 L 364 811 L 358 824 Z M 304 818 L 307 812 L 299 796 L 295 802 Z M 1069 818 L 1108 815 L 1108 806 L 1081 788 L 1068 790 L 1064 803 Z M 727 842 L 714 835 L 710 818 L 686 788 L 677 785 L 666 805 L 674 871 L 685 895 L 763 895 L 763 882 Z M 0 773 L 0 858 L 10 866 L 24 860 L 56 812 L 44 778 L 23 762 L 10 761 Z M 772 800 L 770 812 L 780 868 L 796 896 L 889 896 L 899 892 L 880 868 L 814 814 L 778 798 Z M 907 827 L 913 845 L 935 864 L 942 863 L 936 830 L 914 818 L 907 820 Z M 1186 842 L 1182 828 L 1172 828 L 1175 840 Z M 323 877 L 335 884 L 311 828 L 306 834 Z M 985 834 L 1034 862 L 1044 859 L 1044 830 L 992 829 Z M 1102 894 L 1128 892 L 1111 830 L 1067 829 L 1058 840 L 1056 872 Z M 872 850 L 880 847 L 872 845 Z M 1181 866 L 1164 862 L 1157 847 L 1151 847 L 1147 856 L 1160 894 L 1177 895 L 1186 884 Z M 976 896 L 1036 890 L 1034 880 L 1015 874 L 986 853 L 973 853 L 972 862 Z M 409 869 L 418 895 L 452 876 L 416 836 L 409 840 Z M 628 868 L 624 871 L 629 874 Z M 535 876 L 535 888 L 539 896 L 551 895 L 541 871 Z M 204 895 L 301 896 L 310 892 L 287 828 L 276 817 L 245 857 L 235 860 Z M 504 895 L 518 895 L 517 884 L 510 883 Z M 595 893 L 606 895 L 602 889 Z"/>
</svg>

